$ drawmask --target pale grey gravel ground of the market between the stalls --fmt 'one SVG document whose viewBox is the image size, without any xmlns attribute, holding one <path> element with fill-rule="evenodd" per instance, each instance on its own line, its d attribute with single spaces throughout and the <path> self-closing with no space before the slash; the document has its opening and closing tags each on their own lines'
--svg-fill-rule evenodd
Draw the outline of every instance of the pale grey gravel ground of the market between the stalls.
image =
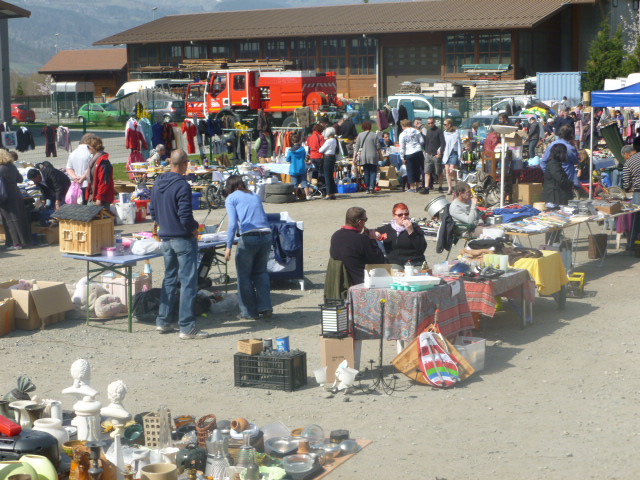
<svg viewBox="0 0 640 480">
<path fill-rule="evenodd" d="M 174 415 L 243 416 L 261 425 L 280 420 L 292 428 L 317 423 L 327 434 L 346 428 L 355 438 L 372 440 L 332 474 L 335 479 L 635 478 L 637 466 L 629 459 L 640 416 L 634 281 L 639 266 L 623 252 L 611 252 L 602 267 L 590 262 L 578 268 L 587 273 L 588 296 L 570 299 L 565 310 L 551 298 L 537 298 L 531 327 L 521 329 L 510 311 L 489 320 L 477 333 L 487 338 L 486 368 L 457 388 L 433 390 L 403 377 L 393 395 L 324 397 L 311 372 L 320 364 L 318 304 L 331 233 L 350 206 L 366 208 L 374 227 L 390 219 L 398 201 L 414 216 L 423 215 L 429 198 L 387 192 L 266 205 L 268 212 L 287 210 L 305 222 L 306 290 L 295 282 L 275 286 L 271 323 L 242 321 L 237 312 L 209 315 L 199 324 L 213 337 L 199 341 L 158 335 L 145 324 L 135 324 L 132 334 L 87 327 L 77 316 L 43 331 L 14 331 L 0 338 L 0 392 L 14 388 L 24 373 L 38 395 L 61 399 L 70 409 L 73 399 L 60 392 L 71 384 L 71 363 L 86 358 L 98 399 L 105 404 L 107 385 L 121 379 L 129 387 L 125 406 L 133 413 L 167 404 Z M 198 219 L 205 214 L 197 212 Z M 213 211 L 206 223 L 219 222 L 223 214 Z M 122 231 L 145 228 L 150 224 Z M 434 244 L 427 258 L 432 264 L 441 258 Z M 586 261 L 584 249 L 578 260 Z M 152 267 L 159 286 L 161 260 Z M 85 268 L 62 258 L 57 246 L 0 251 L 0 280 L 73 283 Z M 229 273 L 233 281 L 232 265 Z M 237 340 L 280 335 L 307 352 L 307 387 L 292 393 L 234 387 Z M 377 348 L 377 342 L 365 342 L 363 360 L 375 358 Z M 387 365 L 394 352 L 395 343 L 385 343 Z"/>
</svg>

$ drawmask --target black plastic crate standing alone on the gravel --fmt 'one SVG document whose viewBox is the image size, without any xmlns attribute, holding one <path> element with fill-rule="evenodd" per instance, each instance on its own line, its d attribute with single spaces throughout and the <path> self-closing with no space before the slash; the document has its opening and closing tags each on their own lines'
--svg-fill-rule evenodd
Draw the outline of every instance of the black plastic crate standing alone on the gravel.
<svg viewBox="0 0 640 480">
<path fill-rule="evenodd" d="M 292 392 L 307 384 L 307 354 L 233 356 L 236 387 L 269 388 Z"/>
</svg>

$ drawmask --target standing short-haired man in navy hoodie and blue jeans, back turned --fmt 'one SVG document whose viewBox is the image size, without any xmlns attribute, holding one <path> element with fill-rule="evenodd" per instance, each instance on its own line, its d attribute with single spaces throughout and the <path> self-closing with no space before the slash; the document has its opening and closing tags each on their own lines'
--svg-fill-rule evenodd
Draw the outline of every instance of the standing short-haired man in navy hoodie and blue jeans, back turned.
<svg viewBox="0 0 640 480">
<path fill-rule="evenodd" d="M 196 328 L 194 309 L 198 292 L 198 222 L 193 218 L 191 186 L 184 177 L 189 157 L 184 150 L 174 150 L 169 163 L 171 171 L 158 177 L 149 205 L 151 216 L 158 224 L 165 269 L 156 330 L 160 333 L 175 331 L 169 316 L 180 281 L 180 338 L 208 338 L 208 333 Z"/>
</svg>

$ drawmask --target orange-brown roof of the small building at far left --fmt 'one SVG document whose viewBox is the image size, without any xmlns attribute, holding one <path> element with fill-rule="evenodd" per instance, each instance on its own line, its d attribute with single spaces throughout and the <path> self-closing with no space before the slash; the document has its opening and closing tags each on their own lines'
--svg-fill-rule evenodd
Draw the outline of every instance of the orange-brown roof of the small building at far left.
<svg viewBox="0 0 640 480">
<path fill-rule="evenodd" d="M 126 48 L 63 50 L 56 53 L 38 73 L 102 72 L 122 70 L 126 66 Z"/>
</svg>

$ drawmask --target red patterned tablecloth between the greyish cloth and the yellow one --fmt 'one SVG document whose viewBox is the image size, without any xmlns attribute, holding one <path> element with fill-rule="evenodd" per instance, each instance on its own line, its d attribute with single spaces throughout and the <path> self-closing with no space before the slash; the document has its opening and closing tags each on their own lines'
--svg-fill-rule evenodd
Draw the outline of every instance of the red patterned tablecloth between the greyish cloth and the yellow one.
<svg viewBox="0 0 640 480">
<path fill-rule="evenodd" d="M 509 270 L 498 278 L 483 282 L 464 281 L 469 309 L 488 317 L 496 313 L 495 297 L 520 299 L 524 294 L 527 302 L 533 302 L 535 289 L 536 284 L 527 270 Z"/>
</svg>

